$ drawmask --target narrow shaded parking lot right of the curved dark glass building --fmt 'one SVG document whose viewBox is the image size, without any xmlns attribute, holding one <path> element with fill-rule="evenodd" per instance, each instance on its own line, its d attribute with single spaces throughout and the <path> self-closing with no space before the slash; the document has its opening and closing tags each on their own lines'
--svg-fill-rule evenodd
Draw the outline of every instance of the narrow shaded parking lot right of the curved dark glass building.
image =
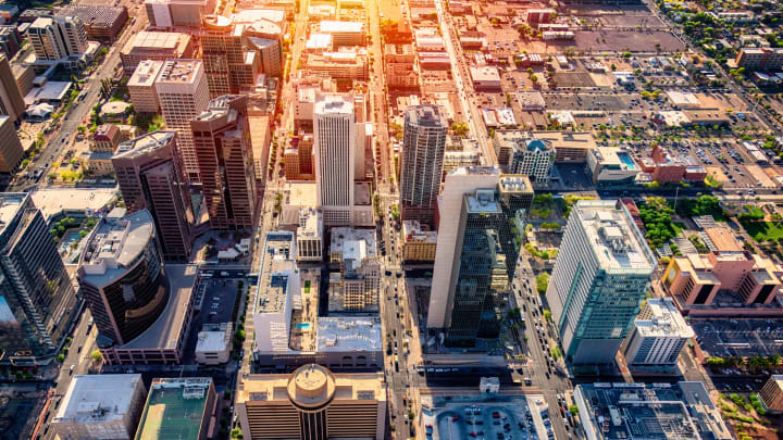
<svg viewBox="0 0 783 440">
<path fill-rule="evenodd" d="M 195 363 L 194 351 L 198 342 L 198 332 L 204 324 L 220 324 L 232 320 L 239 280 L 239 278 L 206 278 L 197 287 L 197 289 L 203 289 L 203 302 L 201 303 L 201 311 L 196 312 L 190 324 L 184 364 Z M 241 280 L 247 284 L 245 278 L 241 278 Z"/>
</svg>

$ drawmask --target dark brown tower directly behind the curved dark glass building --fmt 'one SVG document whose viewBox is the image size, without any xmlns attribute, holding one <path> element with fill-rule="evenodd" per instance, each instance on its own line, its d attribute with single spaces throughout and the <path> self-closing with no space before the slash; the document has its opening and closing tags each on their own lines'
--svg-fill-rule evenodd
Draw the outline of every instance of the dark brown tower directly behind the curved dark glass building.
<svg viewBox="0 0 783 440">
<path fill-rule="evenodd" d="M 194 213 L 175 156 L 176 131 L 152 131 L 117 147 L 112 156 L 125 206 L 149 210 L 165 260 L 188 260 Z"/>
</svg>

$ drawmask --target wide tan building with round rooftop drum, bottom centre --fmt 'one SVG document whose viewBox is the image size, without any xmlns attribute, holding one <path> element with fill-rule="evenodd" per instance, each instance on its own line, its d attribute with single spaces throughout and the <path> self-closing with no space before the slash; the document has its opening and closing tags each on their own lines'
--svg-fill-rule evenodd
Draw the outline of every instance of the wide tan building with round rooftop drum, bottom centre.
<svg viewBox="0 0 783 440">
<path fill-rule="evenodd" d="M 246 439 L 384 438 L 383 373 L 335 374 L 308 364 L 290 375 L 248 375 L 237 395 Z"/>
</svg>

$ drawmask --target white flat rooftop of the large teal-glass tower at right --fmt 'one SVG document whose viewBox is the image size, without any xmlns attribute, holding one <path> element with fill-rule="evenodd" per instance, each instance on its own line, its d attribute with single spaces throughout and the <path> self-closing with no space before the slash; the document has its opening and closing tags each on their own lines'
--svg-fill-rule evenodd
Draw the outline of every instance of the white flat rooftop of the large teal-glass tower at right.
<svg viewBox="0 0 783 440">
<path fill-rule="evenodd" d="M 622 203 L 617 200 L 580 200 L 571 213 L 576 213 L 602 269 L 609 273 L 652 273 L 657 260 Z"/>
</svg>

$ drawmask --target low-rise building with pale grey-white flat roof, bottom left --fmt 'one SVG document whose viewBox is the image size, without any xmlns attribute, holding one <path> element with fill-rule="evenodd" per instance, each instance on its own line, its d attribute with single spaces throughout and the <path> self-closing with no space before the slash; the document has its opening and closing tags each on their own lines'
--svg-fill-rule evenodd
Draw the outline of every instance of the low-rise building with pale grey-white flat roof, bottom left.
<svg viewBox="0 0 783 440">
<path fill-rule="evenodd" d="M 132 440 L 146 397 L 140 374 L 76 375 L 50 431 L 61 439 Z"/>
</svg>

